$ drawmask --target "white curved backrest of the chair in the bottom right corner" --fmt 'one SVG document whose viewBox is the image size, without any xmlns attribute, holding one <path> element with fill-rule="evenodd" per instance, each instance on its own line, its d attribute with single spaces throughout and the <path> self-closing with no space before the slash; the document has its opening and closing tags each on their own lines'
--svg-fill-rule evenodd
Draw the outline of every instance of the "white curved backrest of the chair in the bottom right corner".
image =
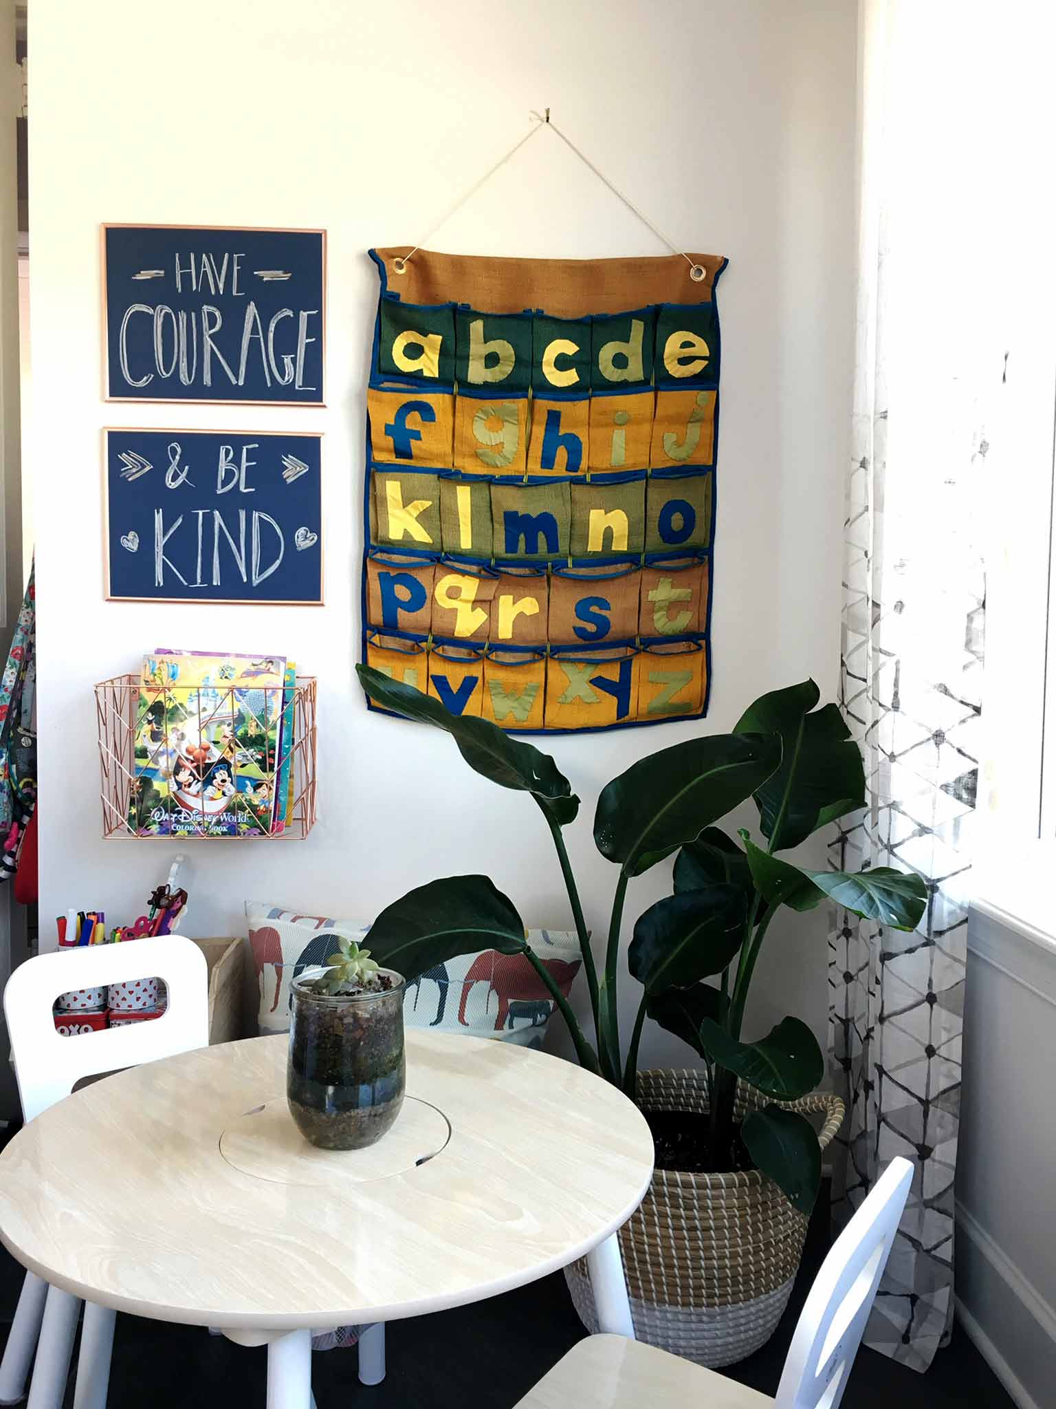
<svg viewBox="0 0 1056 1409">
<path fill-rule="evenodd" d="M 912 1165 L 891 1160 L 821 1264 L 793 1336 L 777 1409 L 836 1409 L 905 1208 Z"/>
</svg>

